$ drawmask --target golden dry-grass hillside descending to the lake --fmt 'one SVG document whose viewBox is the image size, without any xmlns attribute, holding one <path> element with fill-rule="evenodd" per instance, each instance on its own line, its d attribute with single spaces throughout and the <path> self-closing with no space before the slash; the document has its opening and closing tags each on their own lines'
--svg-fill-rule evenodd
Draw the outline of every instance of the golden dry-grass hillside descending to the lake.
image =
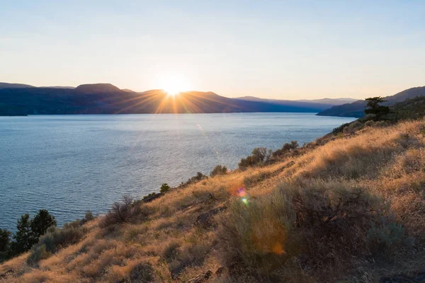
<svg viewBox="0 0 425 283">
<path fill-rule="evenodd" d="M 15 270 L 6 282 L 144 282 L 149 268 L 140 266 L 151 265 L 154 282 L 207 270 L 208 282 L 376 282 L 416 272 L 425 260 L 424 129 L 425 121 L 366 127 L 271 166 L 200 181 L 142 204 L 147 219 L 103 229 L 96 219 L 79 243 L 38 266 L 21 255 L 0 274 Z M 217 225 L 195 224 L 216 207 L 225 207 L 211 217 Z"/>
</svg>

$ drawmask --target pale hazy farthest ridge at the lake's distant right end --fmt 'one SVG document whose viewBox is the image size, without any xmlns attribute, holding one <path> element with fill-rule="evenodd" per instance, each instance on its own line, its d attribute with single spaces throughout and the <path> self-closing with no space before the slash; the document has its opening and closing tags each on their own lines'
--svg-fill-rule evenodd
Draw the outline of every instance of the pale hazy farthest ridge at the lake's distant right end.
<svg viewBox="0 0 425 283">
<path fill-rule="evenodd" d="M 254 96 L 243 96 L 237 99 L 257 101 L 264 103 L 273 103 L 278 105 L 292 105 L 297 107 L 307 107 L 317 110 L 317 112 L 331 108 L 334 105 L 341 105 L 348 102 L 353 102 L 353 98 L 322 98 L 313 100 L 279 100 L 279 99 L 268 99 L 268 98 L 257 98 Z"/>
</svg>

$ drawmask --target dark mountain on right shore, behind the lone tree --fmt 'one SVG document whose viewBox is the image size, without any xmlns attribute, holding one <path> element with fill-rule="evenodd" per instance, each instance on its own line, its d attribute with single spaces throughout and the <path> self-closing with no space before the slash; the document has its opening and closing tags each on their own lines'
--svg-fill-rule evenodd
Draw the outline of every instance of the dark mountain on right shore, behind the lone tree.
<svg viewBox="0 0 425 283">
<path fill-rule="evenodd" d="M 408 98 L 415 98 L 416 96 L 425 96 L 425 86 L 409 88 L 405 91 L 395 94 L 394 96 L 386 96 L 385 100 L 387 100 L 387 102 L 383 104 L 394 105 L 395 103 L 402 102 Z M 317 115 L 339 117 L 363 117 L 365 115 L 365 106 L 365 100 L 357 100 L 353 103 L 336 105 L 332 108 L 317 113 Z"/>
</svg>

